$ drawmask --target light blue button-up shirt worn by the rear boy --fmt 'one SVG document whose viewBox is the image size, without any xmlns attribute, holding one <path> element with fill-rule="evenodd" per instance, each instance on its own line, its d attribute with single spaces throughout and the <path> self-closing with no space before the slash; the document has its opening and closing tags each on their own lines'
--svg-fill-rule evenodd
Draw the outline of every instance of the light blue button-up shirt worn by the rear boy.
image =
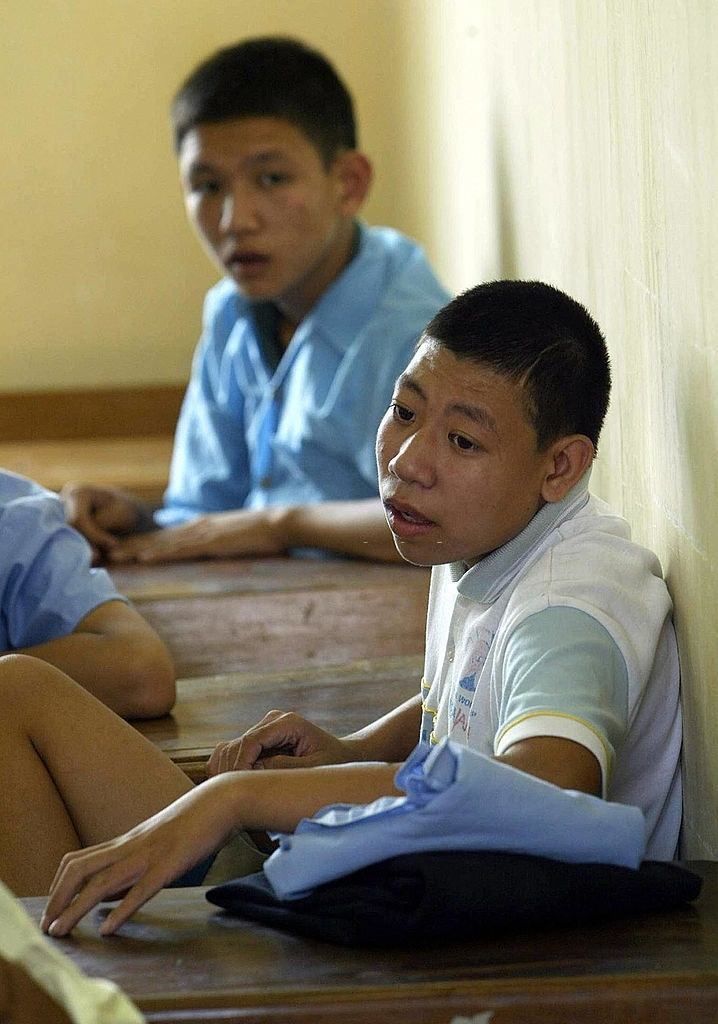
<svg viewBox="0 0 718 1024">
<path fill-rule="evenodd" d="M 272 368 L 251 304 L 231 281 L 216 285 L 157 522 L 375 497 L 377 427 L 423 328 L 447 300 L 419 246 L 361 225 L 356 255 Z"/>
</svg>

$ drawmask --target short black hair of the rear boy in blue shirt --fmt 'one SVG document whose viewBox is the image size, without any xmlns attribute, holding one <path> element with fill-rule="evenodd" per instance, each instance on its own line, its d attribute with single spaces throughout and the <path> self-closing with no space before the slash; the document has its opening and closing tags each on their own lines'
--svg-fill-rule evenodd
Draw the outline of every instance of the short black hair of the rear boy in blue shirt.
<svg viewBox="0 0 718 1024">
<path fill-rule="evenodd" d="M 171 108 L 174 146 L 200 124 L 283 118 L 327 166 L 356 148 L 351 96 L 323 54 L 296 39 L 262 36 L 217 50 L 182 83 Z"/>
</svg>

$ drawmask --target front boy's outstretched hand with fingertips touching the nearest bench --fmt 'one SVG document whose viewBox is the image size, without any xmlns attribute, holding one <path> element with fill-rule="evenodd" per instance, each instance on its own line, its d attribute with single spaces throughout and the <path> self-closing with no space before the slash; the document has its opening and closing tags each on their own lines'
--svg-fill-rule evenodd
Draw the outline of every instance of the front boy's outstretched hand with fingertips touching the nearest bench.
<svg viewBox="0 0 718 1024">
<path fill-rule="evenodd" d="M 163 886 L 225 843 L 234 831 L 221 779 L 206 782 L 124 836 L 62 857 L 40 927 L 67 935 L 102 900 L 125 894 L 100 927 L 112 935 Z"/>
</svg>

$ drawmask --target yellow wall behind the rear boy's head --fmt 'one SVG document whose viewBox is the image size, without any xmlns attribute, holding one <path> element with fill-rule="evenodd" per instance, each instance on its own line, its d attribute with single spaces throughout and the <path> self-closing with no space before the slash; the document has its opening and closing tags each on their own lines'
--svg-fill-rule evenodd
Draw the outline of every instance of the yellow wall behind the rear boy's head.
<svg viewBox="0 0 718 1024">
<path fill-rule="evenodd" d="M 397 15 L 406 6 L 5 5 L 0 391 L 186 379 L 202 297 L 218 274 L 184 221 L 167 109 L 187 72 L 235 39 L 297 35 L 332 54 L 356 97 L 363 143 L 377 166 L 368 219 L 411 230 L 413 195 L 389 173 L 407 134 L 397 131 L 402 97 L 392 87 L 402 67 Z"/>
</svg>

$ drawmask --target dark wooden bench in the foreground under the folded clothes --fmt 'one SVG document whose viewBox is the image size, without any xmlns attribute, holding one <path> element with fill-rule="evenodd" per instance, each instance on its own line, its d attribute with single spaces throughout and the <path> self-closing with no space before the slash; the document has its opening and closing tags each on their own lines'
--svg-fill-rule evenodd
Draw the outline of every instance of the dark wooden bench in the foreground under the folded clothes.
<svg viewBox="0 0 718 1024">
<path fill-rule="evenodd" d="M 55 940 L 152 1024 L 715 1024 L 718 863 L 694 906 L 431 949 L 344 949 L 165 890 L 112 939 L 95 910 Z M 44 900 L 25 899 L 38 920 Z"/>
</svg>

